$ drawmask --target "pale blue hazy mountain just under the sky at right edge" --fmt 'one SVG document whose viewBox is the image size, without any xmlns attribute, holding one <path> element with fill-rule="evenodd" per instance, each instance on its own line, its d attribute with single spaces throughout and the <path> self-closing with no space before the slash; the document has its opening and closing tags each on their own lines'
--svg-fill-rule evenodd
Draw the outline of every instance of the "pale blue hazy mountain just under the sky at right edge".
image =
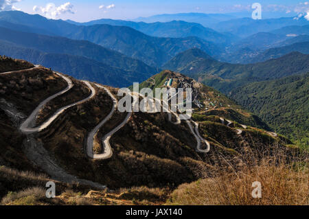
<svg viewBox="0 0 309 219">
<path fill-rule="evenodd" d="M 258 32 L 271 32 L 282 27 L 291 25 L 309 25 L 309 21 L 304 18 L 293 19 L 293 17 L 283 17 L 280 19 L 253 20 L 251 18 L 232 19 L 222 21 L 214 27 L 218 32 L 231 32 L 237 36 L 246 37 Z M 279 34 L 279 33 L 275 33 Z"/>
</svg>

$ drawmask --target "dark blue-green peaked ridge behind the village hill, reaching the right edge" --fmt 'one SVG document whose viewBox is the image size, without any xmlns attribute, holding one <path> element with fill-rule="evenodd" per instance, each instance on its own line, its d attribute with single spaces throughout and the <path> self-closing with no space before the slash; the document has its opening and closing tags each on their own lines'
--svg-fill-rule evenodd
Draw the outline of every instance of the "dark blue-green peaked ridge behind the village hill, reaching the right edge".
<svg viewBox="0 0 309 219">
<path fill-rule="evenodd" d="M 181 53 L 174 57 L 164 67 L 192 76 L 198 82 L 203 82 L 223 93 L 229 93 L 231 89 L 242 87 L 250 82 L 282 78 L 309 71 L 309 56 L 298 52 L 266 62 L 237 65 L 203 58 L 206 55 L 201 56 L 203 52 L 200 51 L 195 53 L 197 54 L 196 60 L 192 61 L 192 58 L 190 58 L 187 59 L 187 62 L 181 62 L 181 65 L 174 65 L 176 60 L 186 60 L 185 54 Z"/>
</svg>

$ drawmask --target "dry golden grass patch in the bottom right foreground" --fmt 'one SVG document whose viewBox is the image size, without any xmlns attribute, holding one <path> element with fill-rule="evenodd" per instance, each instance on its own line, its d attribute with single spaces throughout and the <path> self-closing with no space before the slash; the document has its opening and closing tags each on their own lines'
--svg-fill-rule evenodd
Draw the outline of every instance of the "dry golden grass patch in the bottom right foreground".
<svg viewBox="0 0 309 219">
<path fill-rule="evenodd" d="M 308 163 L 288 165 L 263 159 L 237 172 L 220 172 L 213 178 L 183 184 L 170 205 L 308 205 Z M 262 198 L 253 198 L 252 183 L 262 184 Z"/>
</svg>

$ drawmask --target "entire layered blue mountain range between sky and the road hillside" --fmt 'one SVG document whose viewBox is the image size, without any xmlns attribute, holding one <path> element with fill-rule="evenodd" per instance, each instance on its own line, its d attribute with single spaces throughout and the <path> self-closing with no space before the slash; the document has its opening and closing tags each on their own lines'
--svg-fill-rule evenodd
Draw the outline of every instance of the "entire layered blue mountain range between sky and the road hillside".
<svg viewBox="0 0 309 219">
<path fill-rule="evenodd" d="M 205 14 L 178 14 L 176 16 L 207 17 Z M 221 17 L 214 14 L 211 16 L 216 16 L 217 20 L 228 19 L 228 16 Z M 275 73 L 274 75 L 278 74 L 282 77 L 288 76 L 286 71 L 290 71 L 290 74 L 299 73 L 301 67 L 306 65 L 304 55 L 296 53 L 289 56 L 295 65 L 289 66 L 275 60 L 256 65 L 233 65 L 226 63 L 227 61 L 262 62 L 271 58 L 279 58 L 293 51 L 308 53 L 308 49 L 306 49 L 308 48 L 306 42 L 308 36 L 282 34 L 287 30 L 290 30 L 288 33 L 293 33 L 292 30 L 297 30 L 297 33 L 306 33 L 308 27 L 304 24 L 308 21 L 305 19 L 222 21 L 218 23 L 218 29 L 220 29 L 220 25 L 226 24 L 225 28 L 227 29 L 242 30 L 244 28 L 249 34 L 251 31 L 249 26 L 256 27 L 256 30 L 251 32 L 253 35 L 242 38 L 231 45 L 225 45 L 225 48 L 222 44 L 211 43 L 202 38 L 226 42 L 233 38 L 231 34 L 220 34 L 198 23 L 185 21 L 136 23 L 107 19 L 89 23 L 73 23 L 73 21 L 68 23 L 62 20 L 49 20 L 43 16 L 18 11 L 0 12 L 0 28 L 3 32 L 0 36 L 1 52 L 8 56 L 14 56 L 14 58 L 24 58 L 42 63 L 58 71 L 65 70 L 81 79 L 98 80 L 115 87 L 128 86 L 134 81 L 141 82 L 163 68 L 180 71 L 190 76 L 194 75 L 201 82 L 224 92 L 247 82 L 264 80 L 269 75 L 269 72 L 266 72 L 267 68 L 268 71 L 269 68 L 274 71 L 271 72 Z M 240 24 L 241 26 L 238 28 Z M 264 31 L 272 30 L 273 32 L 258 32 L 263 25 L 265 25 Z M 290 28 L 279 29 L 284 25 L 289 25 Z M 302 26 L 295 27 L 295 25 Z M 132 27 L 160 37 L 149 36 Z M 180 31 L 177 32 L 177 30 Z M 190 36 L 191 34 L 196 36 Z M 185 36 L 185 38 L 163 36 Z M 201 36 L 201 38 L 197 36 Z M 5 44 L 4 42 L 10 43 Z M 281 45 L 284 47 L 280 47 Z M 273 49 L 274 46 L 280 48 Z M 62 54 L 61 57 L 67 62 L 56 61 L 56 54 Z M 45 58 L 47 55 L 49 61 Z M 220 62 L 211 57 L 220 60 Z M 297 61 L 297 58 L 300 60 Z M 282 60 L 286 60 L 286 57 Z M 257 66 L 258 69 L 255 69 Z M 281 67 L 283 69 L 279 69 Z M 87 69 L 89 72 L 84 73 Z M 115 80 L 114 74 L 122 79 Z M 207 77 L 205 77 L 206 75 Z M 214 78 L 209 78 L 209 75 Z M 237 82 L 235 82 L 236 79 Z M 233 82 L 228 82 L 228 80 L 233 80 Z"/>
</svg>

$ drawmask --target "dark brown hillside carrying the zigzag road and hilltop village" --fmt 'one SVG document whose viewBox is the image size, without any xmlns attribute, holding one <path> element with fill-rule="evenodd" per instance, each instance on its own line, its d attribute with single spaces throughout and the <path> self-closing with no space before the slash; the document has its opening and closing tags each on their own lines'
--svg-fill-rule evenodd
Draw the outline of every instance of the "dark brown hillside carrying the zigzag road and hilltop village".
<svg viewBox="0 0 309 219">
<path fill-rule="evenodd" d="M 211 176 L 213 164 L 226 166 L 226 159 L 237 170 L 249 149 L 250 158 L 274 148 L 292 151 L 290 141 L 263 130 L 258 117 L 191 78 L 163 71 L 143 86 L 161 87 L 170 78 L 173 87 L 194 89 L 192 119 L 120 113 L 115 88 L 41 66 L 8 67 L 0 73 L 0 165 L 95 189 L 172 188 L 195 181 L 201 170 Z M 1 176 L 0 183 L 8 185 Z"/>
</svg>

